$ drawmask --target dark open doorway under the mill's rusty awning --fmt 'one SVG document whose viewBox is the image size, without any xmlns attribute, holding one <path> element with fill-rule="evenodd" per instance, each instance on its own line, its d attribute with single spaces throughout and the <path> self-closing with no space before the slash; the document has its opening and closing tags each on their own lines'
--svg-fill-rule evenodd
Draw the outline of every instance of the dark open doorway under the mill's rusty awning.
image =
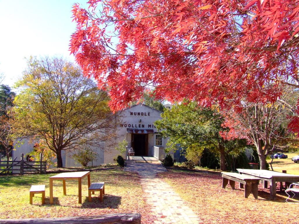
<svg viewBox="0 0 299 224">
<path fill-rule="evenodd" d="M 135 156 L 148 156 L 148 134 L 132 134 L 131 137 Z"/>
</svg>

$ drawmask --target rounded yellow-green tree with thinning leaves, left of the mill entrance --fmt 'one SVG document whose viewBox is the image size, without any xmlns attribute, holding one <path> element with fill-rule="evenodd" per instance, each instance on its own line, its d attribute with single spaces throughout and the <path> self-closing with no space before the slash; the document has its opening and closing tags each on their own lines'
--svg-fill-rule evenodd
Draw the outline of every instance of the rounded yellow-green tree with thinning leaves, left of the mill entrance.
<svg viewBox="0 0 299 224">
<path fill-rule="evenodd" d="M 57 156 L 57 167 L 63 167 L 62 150 L 87 145 L 104 150 L 106 142 L 113 142 L 117 115 L 109 109 L 107 93 L 72 63 L 30 58 L 16 87 L 16 131 L 45 139 Z"/>
</svg>

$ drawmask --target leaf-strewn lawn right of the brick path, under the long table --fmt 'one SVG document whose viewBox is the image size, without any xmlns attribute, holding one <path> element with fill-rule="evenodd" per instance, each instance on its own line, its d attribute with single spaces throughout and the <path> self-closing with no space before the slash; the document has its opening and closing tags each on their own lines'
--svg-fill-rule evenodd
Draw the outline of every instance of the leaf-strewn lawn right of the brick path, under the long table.
<svg viewBox="0 0 299 224">
<path fill-rule="evenodd" d="M 256 200 L 252 194 L 245 198 L 237 182 L 236 190 L 229 185 L 222 189 L 221 175 L 172 170 L 158 177 L 173 187 L 202 223 L 297 224 L 299 220 L 298 204 L 286 203 L 284 191 L 271 200 L 269 189 L 263 189 L 262 184 Z"/>
</svg>

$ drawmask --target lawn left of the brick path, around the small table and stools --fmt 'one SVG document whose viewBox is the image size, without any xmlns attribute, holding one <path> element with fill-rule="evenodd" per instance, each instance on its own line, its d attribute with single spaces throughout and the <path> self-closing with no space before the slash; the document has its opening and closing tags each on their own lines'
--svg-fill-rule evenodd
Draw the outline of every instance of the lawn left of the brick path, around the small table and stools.
<svg viewBox="0 0 299 224">
<path fill-rule="evenodd" d="M 145 202 L 144 194 L 136 173 L 120 169 L 92 171 L 91 182 L 105 182 L 103 202 L 99 192 L 88 201 L 87 178 L 82 181 L 82 204 L 78 203 L 78 182 L 66 181 L 66 194 L 63 195 L 62 181 L 53 181 L 54 204 L 49 204 L 49 177 L 54 174 L 33 174 L 24 176 L 0 177 L 0 218 L 40 218 L 73 217 L 113 213 L 141 213 L 142 223 L 152 223 L 155 217 L 149 214 L 150 207 Z M 41 194 L 33 197 L 29 204 L 31 185 L 45 184 L 45 204 L 41 205 Z"/>
</svg>

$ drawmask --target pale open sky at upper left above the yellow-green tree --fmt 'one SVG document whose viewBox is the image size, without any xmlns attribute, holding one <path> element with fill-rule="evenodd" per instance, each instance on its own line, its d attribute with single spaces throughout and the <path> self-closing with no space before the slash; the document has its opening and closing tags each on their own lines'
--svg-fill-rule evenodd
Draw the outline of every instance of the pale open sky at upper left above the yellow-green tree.
<svg viewBox="0 0 299 224">
<path fill-rule="evenodd" d="M 22 77 L 30 56 L 59 56 L 74 61 L 68 51 L 75 31 L 72 5 L 86 7 L 87 0 L 0 0 L 1 84 L 9 85 Z"/>
</svg>

